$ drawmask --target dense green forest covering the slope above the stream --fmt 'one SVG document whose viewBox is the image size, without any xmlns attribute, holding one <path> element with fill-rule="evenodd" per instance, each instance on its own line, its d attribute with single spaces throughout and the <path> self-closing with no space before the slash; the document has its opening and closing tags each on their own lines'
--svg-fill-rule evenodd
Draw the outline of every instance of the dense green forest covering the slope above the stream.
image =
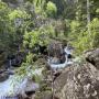
<svg viewBox="0 0 99 99">
<path fill-rule="evenodd" d="M 36 44 L 66 40 L 80 55 L 99 47 L 99 0 L 0 0 L 0 52 L 28 52 L 20 73 L 33 66 Z M 19 72 L 18 72 L 19 73 Z"/>
</svg>

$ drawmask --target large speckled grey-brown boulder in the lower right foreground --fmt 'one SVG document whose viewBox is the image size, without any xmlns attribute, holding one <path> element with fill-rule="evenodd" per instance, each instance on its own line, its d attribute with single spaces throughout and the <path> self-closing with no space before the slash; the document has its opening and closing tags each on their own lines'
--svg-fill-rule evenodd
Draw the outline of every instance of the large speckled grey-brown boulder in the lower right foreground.
<svg viewBox="0 0 99 99">
<path fill-rule="evenodd" d="M 99 70 L 89 63 L 66 67 L 54 81 L 57 99 L 99 99 Z"/>
</svg>

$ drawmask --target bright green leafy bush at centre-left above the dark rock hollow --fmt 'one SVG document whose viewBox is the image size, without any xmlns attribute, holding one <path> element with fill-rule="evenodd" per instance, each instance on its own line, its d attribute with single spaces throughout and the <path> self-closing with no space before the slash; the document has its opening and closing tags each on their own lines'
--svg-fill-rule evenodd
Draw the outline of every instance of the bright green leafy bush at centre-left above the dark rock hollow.
<svg viewBox="0 0 99 99">
<path fill-rule="evenodd" d="M 41 26 L 38 30 L 25 32 L 23 45 L 30 48 L 35 44 L 47 45 L 50 36 L 54 36 L 54 28 L 52 25 Z"/>
</svg>

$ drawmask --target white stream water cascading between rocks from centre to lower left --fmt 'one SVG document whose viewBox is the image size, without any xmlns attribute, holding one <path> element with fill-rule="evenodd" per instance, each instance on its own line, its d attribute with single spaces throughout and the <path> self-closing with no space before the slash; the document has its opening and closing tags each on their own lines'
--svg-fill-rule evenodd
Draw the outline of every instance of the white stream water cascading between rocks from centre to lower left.
<svg viewBox="0 0 99 99">
<path fill-rule="evenodd" d="M 66 50 L 64 50 L 66 52 Z M 47 61 L 47 64 L 51 66 L 53 69 L 59 69 L 64 68 L 65 66 L 73 64 L 73 62 L 68 62 L 67 55 L 65 55 L 66 61 L 63 64 L 52 64 L 50 61 Z M 42 75 L 43 68 L 35 69 L 33 72 L 28 70 L 28 76 L 31 76 L 32 74 L 37 74 Z M 11 75 L 6 81 L 0 82 L 0 99 L 7 99 L 6 97 L 8 96 L 15 96 L 20 91 L 24 89 L 26 86 L 28 77 L 24 77 L 24 79 L 18 80 L 16 75 Z M 32 84 L 32 87 L 35 89 L 36 84 Z M 37 86 L 37 85 L 36 85 Z M 37 86 L 38 87 L 38 86 Z M 10 99 L 10 98 L 9 98 Z"/>
</svg>

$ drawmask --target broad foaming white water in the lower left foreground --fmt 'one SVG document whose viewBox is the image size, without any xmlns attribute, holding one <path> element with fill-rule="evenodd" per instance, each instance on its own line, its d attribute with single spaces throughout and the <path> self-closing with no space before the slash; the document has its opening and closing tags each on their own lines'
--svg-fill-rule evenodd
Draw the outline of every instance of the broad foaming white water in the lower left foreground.
<svg viewBox="0 0 99 99">
<path fill-rule="evenodd" d="M 42 70 L 43 68 L 38 68 L 32 73 L 36 75 L 42 75 Z M 31 77 L 31 73 L 28 74 L 28 77 Z M 16 98 L 6 98 L 6 97 L 16 96 L 20 91 L 22 91 L 28 82 L 28 77 L 24 77 L 24 79 L 20 79 L 19 76 L 11 75 L 9 79 L 7 79 L 3 82 L 0 82 L 0 99 L 16 99 Z M 32 84 L 32 89 L 35 89 L 35 86 L 38 87 L 37 84 Z"/>
</svg>

